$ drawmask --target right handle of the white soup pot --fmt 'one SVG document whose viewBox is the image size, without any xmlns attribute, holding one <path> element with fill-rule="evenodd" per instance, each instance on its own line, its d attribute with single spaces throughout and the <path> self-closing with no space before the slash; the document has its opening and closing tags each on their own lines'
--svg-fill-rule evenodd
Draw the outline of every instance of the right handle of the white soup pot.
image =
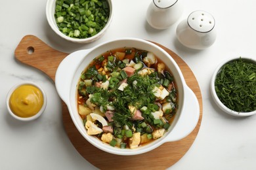
<svg viewBox="0 0 256 170">
<path fill-rule="evenodd" d="M 193 129 L 196 127 L 199 116 L 200 116 L 200 107 L 198 99 L 194 92 L 187 87 L 184 88 L 184 107 L 181 111 L 182 114 L 179 117 L 175 128 L 165 137 L 165 142 L 179 141 L 180 139 L 189 135 Z"/>
</svg>

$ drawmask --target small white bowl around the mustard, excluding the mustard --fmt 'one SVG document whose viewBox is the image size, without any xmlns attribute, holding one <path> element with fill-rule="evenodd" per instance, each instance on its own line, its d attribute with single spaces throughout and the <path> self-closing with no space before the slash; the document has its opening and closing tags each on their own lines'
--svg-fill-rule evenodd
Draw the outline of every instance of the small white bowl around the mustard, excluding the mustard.
<svg viewBox="0 0 256 170">
<path fill-rule="evenodd" d="M 41 109 L 39 110 L 39 112 L 37 112 L 37 114 L 35 114 L 34 116 L 31 116 L 31 117 L 28 117 L 28 118 L 22 118 L 20 116 L 17 116 L 16 114 L 14 114 L 14 112 L 12 112 L 11 110 L 11 107 L 9 105 L 9 100 L 10 100 L 10 97 L 12 95 L 12 92 L 14 92 L 14 90 L 16 90 L 16 88 L 22 86 L 22 85 L 32 85 L 32 86 L 35 86 L 36 88 L 38 88 L 42 94 L 43 94 L 43 106 L 41 107 Z M 22 82 L 20 84 L 16 84 L 15 86 L 13 86 L 11 88 L 11 90 L 9 90 L 9 93 L 7 94 L 7 100 L 6 100 L 6 104 L 7 104 L 7 109 L 9 111 L 9 114 L 11 114 L 11 116 L 13 118 L 16 118 L 17 120 L 22 120 L 22 121 L 31 121 L 31 120 L 35 120 L 36 118 L 39 118 L 39 116 L 41 116 L 41 114 L 43 114 L 43 111 L 45 110 L 46 108 L 46 105 L 47 105 L 47 97 L 46 97 L 46 94 L 45 92 L 43 91 L 43 89 L 38 86 L 37 84 L 33 83 L 33 82 Z"/>
</svg>

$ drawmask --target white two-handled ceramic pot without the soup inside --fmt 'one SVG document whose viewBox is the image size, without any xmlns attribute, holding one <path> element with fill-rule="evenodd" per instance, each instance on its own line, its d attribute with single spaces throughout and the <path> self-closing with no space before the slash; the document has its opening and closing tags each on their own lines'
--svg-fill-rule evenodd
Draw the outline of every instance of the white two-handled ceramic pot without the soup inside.
<svg viewBox="0 0 256 170">
<path fill-rule="evenodd" d="M 171 72 L 177 82 L 179 90 L 179 109 L 175 116 L 175 120 L 169 131 L 163 137 L 155 140 L 150 144 L 141 146 L 136 149 L 121 149 L 102 143 L 96 137 L 87 135 L 87 131 L 83 126 L 83 122 L 77 112 L 77 82 L 81 73 L 89 65 L 89 63 L 100 54 L 115 48 L 135 47 L 153 52 L 160 58 L 165 65 L 171 68 Z M 89 50 L 79 50 L 68 55 L 58 66 L 56 71 L 55 85 L 61 99 L 68 105 L 70 116 L 77 127 L 78 131 L 85 137 L 89 143 L 111 154 L 118 155 L 135 155 L 148 152 L 163 143 L 169 141 L 177 141 L 186 137 L 196 127 L 200 115 L 200 109 L 196 95 L 188 88 L 184 77 L 177 63 L 162 48 L 152 42 L 135 38 L 116 39 L 114 41 L 98 44 Z"/>
</svg>

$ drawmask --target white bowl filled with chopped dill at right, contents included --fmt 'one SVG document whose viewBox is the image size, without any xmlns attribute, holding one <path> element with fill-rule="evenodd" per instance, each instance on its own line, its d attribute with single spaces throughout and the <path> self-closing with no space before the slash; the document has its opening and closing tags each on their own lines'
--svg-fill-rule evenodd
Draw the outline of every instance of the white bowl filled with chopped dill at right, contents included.
<svg viewBox="0 0 256 170">
<path fill-rule="evenodd" d="M 223 61 L 213 74 L 211 94 L 228 114 L 256 114 L 256 60 L 240 57 Z"/>
</svg>

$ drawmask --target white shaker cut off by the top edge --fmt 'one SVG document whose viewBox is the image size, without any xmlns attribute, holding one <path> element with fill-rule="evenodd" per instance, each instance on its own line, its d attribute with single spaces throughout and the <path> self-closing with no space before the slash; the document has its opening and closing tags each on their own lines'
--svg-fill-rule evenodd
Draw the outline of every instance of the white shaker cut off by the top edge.
<svg viewBox="0 0 256 170">
<path fill-rule="evenodd" d="M 155 29 L 167 29 L 180 18 L 182 0 L 153 0 L 146 12 L 146 20 Z"/>
</svg>

